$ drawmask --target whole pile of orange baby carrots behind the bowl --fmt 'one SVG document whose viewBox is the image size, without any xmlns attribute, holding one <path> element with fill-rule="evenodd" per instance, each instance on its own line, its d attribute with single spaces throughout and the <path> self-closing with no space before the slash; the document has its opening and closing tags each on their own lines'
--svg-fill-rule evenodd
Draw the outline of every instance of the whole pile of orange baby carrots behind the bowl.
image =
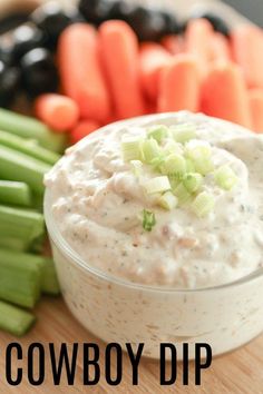
<svg viewBox="0 0 263 394">
<path fill-rule="evenodd" d="M 36 114 L 72 144 L 115 120 L 184 109 L 263 132 L 263 32 L 251 24 L 226 38 L 193 19 L 184 36 L 139 43 L 124 21 L 79 22 L 61 33 L 57 63 L 61 90 L 39 97 Z"/>
</svg>

